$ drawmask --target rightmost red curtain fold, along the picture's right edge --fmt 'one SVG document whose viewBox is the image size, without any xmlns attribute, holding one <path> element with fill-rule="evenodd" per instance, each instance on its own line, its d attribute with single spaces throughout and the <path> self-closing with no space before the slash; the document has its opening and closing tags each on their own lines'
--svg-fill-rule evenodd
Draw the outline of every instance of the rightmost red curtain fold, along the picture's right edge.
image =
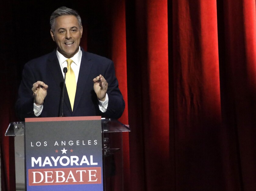
<svg viewBox="0 0 256 191">
<path fill-rule="evenodd" d="M 253 190 L 255 182 L 255 1 L 224 1 L 224 54 L 220 69 L 222 115 L 234 190 Z M 230 136 L 231 135 L 231 136 Z M 226 138 L 224 137 L 224 139 Z M 236 182 L 239 177 L 239 183 Z M 229 182 L 230 182 L 229 179 Z M 235 185 L 240 184 L 240 189 Z M 229 185 L 230 186 L 230 185 Z"/>
</svg>

